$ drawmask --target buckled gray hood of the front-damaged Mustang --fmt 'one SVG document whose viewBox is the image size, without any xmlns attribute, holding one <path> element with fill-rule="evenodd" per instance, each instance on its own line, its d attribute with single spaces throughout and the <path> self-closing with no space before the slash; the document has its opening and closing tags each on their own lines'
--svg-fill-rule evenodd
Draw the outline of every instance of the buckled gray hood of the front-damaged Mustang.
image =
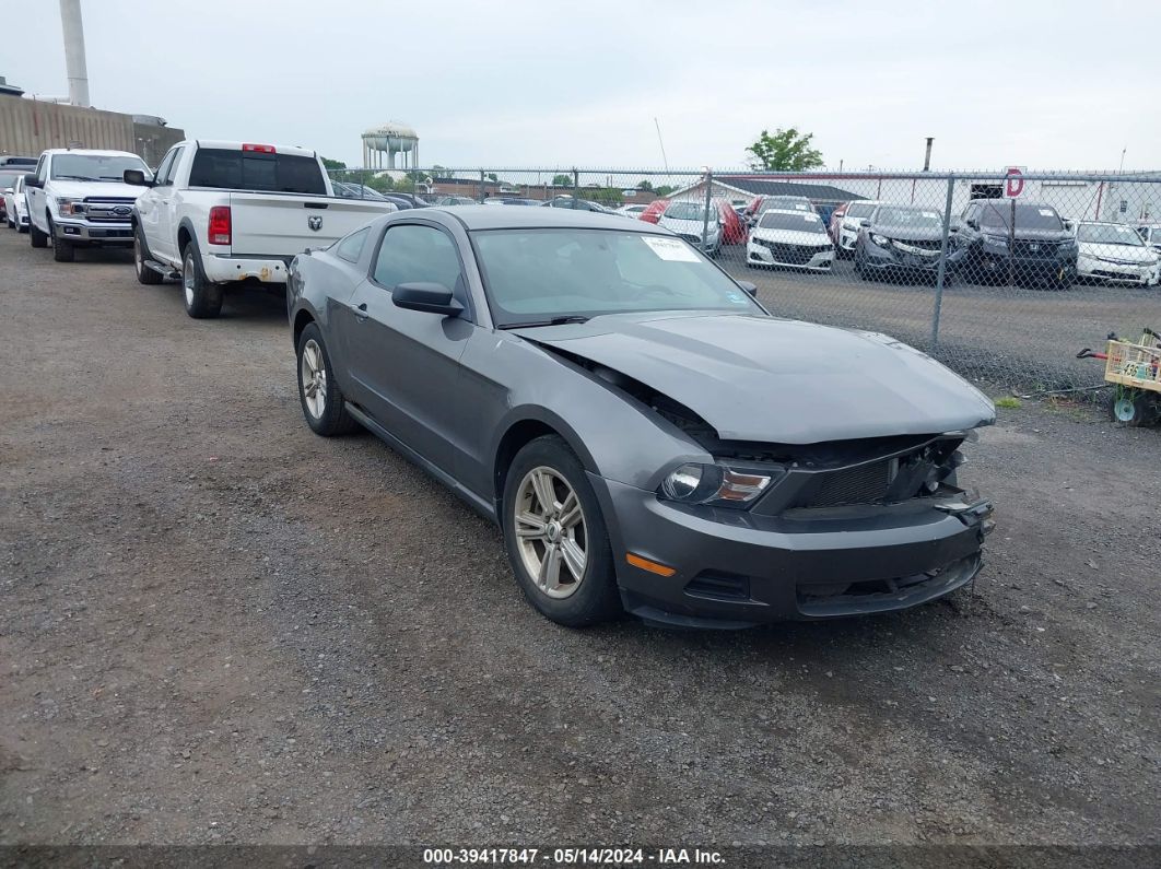
<svg viewBox="0 0 1161 869">
<path fill-rule="evenodd" d="M 820 443 L 995 421 L 974 386 L 887 335 L 773 317 L 654 312 L 515 334 L 678 401 L 727 441 Z"/>
</svg>

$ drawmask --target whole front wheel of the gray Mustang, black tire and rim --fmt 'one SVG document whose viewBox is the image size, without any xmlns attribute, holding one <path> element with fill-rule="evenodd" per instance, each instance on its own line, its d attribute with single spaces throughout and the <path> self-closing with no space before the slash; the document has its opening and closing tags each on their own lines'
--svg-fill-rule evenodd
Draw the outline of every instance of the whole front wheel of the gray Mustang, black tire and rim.
<svg viewBox="0 0 1161 869">
<path fill-rule="evenodd" d="M 568 628 L 585 628 L 621 611 L 597 494 L 580 459 L 561 437 L 538 437 L 517 454 L 505 476 L 502 509 L 509 562 L 525 598 L 541 615 Z"/>
</svg>

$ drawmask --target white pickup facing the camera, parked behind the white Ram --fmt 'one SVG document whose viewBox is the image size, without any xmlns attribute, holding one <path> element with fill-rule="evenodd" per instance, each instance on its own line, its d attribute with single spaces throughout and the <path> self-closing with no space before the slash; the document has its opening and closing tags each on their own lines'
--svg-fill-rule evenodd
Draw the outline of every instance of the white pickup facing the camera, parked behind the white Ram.
<svg viewBox="0 0 1161 869">
<path fill-rule="evenodd" d="M 50 149 L 24 180 L 33 247 L 52 240 L 52 259 L 72 262 L 78 247 L 131 247 L 130 215 L 139 187 L 124 182 L 125 169 L 152 178 L 145 161 L 127 151 Z"/>
</svg>

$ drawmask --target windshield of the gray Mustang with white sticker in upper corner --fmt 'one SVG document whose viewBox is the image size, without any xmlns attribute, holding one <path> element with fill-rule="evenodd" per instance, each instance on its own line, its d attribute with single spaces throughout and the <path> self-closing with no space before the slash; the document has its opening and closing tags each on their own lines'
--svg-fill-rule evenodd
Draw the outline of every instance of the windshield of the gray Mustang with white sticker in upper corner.
<svg viewBox="0 0 1161 869">
<path fill-rule="evenodd" d="M 628 311 L 762 309 L 680 239 L 616 230 L 482 230 L 473 241 L 499 326 Z"/>
</svg>

